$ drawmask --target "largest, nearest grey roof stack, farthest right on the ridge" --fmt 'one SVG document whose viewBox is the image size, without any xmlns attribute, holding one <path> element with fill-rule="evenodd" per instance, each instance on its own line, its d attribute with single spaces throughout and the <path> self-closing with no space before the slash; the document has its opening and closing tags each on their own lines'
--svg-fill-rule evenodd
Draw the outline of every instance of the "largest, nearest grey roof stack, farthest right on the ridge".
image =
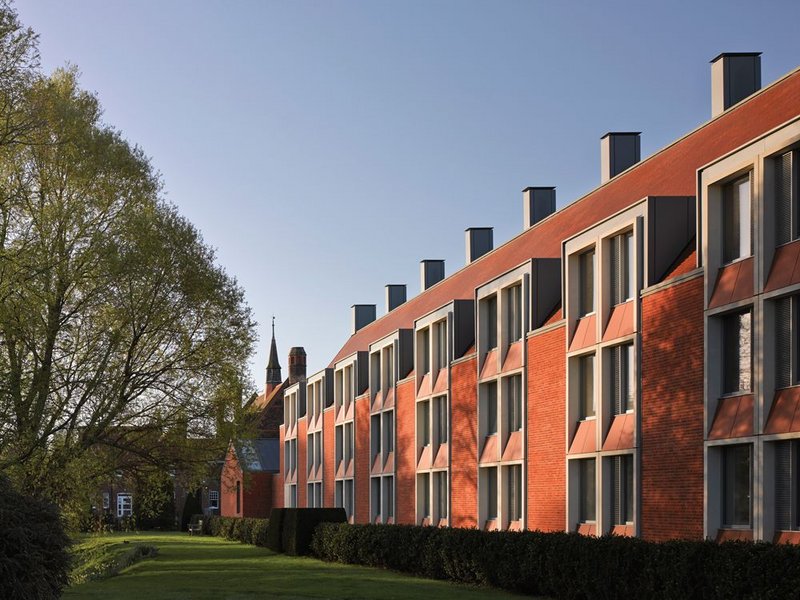
<svg viewBox="0 0 800 600">
<path fill-rule="evenodd" d="M 711 117 L 761 89 L 761 52 L 723 52 L 711 61 Z"/>
</svg>

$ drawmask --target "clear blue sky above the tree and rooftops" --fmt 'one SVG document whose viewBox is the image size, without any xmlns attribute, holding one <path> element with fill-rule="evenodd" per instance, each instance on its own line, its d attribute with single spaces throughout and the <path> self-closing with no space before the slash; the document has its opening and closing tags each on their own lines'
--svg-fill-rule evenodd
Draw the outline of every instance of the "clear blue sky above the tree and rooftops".
<svg viewBox="0 0 800 600">
<path fill-rule="evenodd" d="M 706 121 L 708 61 L 800 65 L 800 2 L 27 0 L 45 69 L 76 64 L 169 200 L 310 373 L 350 306 L 464 265 L 464 229 L 522 227 L 520 191 L 599 183 L 599 138 L 647 156 Z"/>
</svg>

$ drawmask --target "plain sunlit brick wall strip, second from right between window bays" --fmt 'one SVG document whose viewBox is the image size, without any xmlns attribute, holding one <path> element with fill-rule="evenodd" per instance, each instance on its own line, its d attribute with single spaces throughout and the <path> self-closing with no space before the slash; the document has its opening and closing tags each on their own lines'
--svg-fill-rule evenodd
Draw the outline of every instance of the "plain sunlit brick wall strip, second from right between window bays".
<svg viewBox="0 0 800 600">
<path fill-rule="evenodd" d="M 528 529 L 566 525 L 565 331 L 528 339 Z"/>
</svg>

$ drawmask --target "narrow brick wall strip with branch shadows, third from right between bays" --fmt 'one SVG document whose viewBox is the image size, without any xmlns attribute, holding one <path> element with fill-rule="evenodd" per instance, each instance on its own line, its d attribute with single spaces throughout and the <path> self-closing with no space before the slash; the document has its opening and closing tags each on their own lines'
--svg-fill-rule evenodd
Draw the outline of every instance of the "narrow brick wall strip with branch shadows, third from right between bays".
<svg viewBox="0 0 800 600">
<path fill-rule="evenodd" d="M 453 527 L 476 527 L 478 516 L 478 399 L 475 358 L 451 367 L 450 482 Z"/>
</svg>

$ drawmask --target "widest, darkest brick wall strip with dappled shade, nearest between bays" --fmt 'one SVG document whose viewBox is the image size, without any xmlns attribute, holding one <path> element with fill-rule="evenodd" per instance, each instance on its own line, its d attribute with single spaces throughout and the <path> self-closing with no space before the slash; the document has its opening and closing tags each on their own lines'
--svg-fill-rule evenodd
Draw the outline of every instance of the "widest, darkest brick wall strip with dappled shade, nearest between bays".
<svg viewBox="0 0 800 600">
<path fill-rule="evenodd" d="M 642 299 L 642 537 L 703 537 L 703 279 Z"/>
</svg>

